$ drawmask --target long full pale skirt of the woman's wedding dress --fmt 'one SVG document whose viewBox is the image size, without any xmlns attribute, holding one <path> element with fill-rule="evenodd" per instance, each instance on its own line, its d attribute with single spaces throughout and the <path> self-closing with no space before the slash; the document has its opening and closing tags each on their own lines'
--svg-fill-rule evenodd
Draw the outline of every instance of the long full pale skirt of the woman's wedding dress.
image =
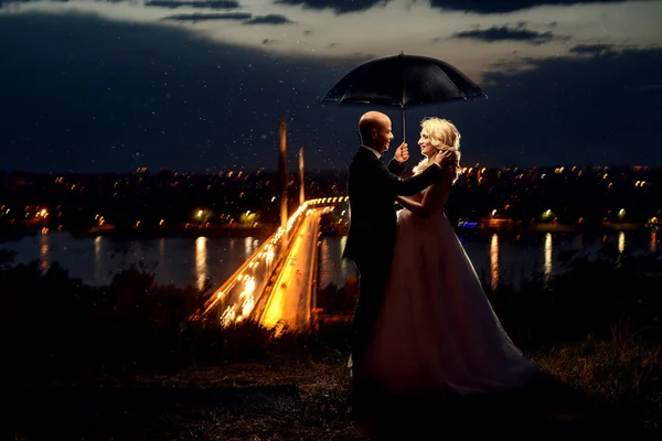
<svg viewBox="0 0 662 441">
<path fill-rule="evenodd" d="M 536 370 L 513 344 L 441 206 L 398 212 L 397 237 L 369 376 L 392 392 L 514 389 Z"/>
</svg>

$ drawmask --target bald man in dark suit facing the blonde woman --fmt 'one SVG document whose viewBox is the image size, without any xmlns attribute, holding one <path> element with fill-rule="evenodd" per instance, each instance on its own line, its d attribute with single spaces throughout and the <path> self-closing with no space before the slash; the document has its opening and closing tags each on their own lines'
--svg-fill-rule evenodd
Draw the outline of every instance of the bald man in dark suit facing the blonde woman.
<svg viewBox="0 0 662 441">
<path fill-rule="evenodd" d="M 350 229 L 343 258 L 354 262 L 359 272 L 359 301 L 352 323 L 352 378 L 360 385 L 360 366 L 370 334 L 377 320 L 382 295 L 386 289 L 393 247 L 395 245 L 395 196 L 413 195 L 442 180 L 442 163 L 450 153 L 438 155 L 436 165 L 423 173 L 401 179 L 409 159 L 406 143 L 396 150 L 388 166 L 382 154 L 393 140 L 391 119 L 378 111 L 369 111 L 359 120 L 361 147 L 350 164 Z"/>
</svg>

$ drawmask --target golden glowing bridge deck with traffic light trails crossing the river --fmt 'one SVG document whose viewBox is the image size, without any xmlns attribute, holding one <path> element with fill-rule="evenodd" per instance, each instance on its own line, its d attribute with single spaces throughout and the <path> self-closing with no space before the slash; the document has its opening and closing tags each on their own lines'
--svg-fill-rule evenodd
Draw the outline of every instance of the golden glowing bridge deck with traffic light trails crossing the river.
<svg viewBox="0 0 662 441">
<path fill-rule="evenodd" d="M 303 202 L 205 302 L 195 316 L 228 325 L 250 319 L 301 329 L 316 305 L 320 218 L 348 197 Z"/>
</svg>

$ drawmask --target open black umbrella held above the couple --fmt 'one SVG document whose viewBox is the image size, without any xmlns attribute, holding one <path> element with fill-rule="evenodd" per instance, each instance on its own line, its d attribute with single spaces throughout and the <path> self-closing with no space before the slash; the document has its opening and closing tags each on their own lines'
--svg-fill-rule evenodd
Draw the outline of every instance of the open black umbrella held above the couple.
<svg viewBox="0 0 662 441">
<path fill-rule="evenodd" d="M 354 68 L 322 101 L 401 106 L 404 140 L 406 106 L 483 97 L 485 93 L 450 64 L 401 53 Z"/>
</svg>

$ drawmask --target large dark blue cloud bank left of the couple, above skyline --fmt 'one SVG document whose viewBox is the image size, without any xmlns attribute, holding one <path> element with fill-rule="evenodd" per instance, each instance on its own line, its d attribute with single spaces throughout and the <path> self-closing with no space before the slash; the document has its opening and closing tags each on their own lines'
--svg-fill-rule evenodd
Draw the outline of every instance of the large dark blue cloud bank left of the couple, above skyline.
<svg viewBox="0 0 662 441">
<path fill-rule="evenodd" d="M 83 14 L 0 15 L 0 58 L 12 61 L 0 68 L 0 169 L 275 169 L 280 116 L 292 149 L 320 147 L 330 128 L 306 117 L 340 75 L 322 61 Z M 309 150 L 307 161 L 339 154 Z"/>
</svg>

